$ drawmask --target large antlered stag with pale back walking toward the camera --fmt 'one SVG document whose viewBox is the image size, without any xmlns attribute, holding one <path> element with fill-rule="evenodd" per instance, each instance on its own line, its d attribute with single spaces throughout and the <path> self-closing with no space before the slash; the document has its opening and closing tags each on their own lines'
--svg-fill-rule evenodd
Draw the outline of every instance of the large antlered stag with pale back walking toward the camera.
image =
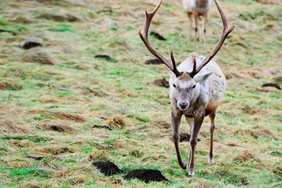
<svg viewBox="0 0 282 188">
<path fill-rule="evenodd" d="M 166 70 L 170 77 L 170 94 L 171 99 L 171 122 L 172 122 L 172 140 L 176 149 L 178 164 L 181 168 L 188 171 L 189 177 L 195 175 L 195 148 L 197 146 L 197 137 L 200 132 L 203 120 L 209 116 L 210 125 L 210 142 L 209 142 L 209 163 L 214 161 L 213 145 L 214 145 L 214 119 L 216 118 L 216 108 L 223 100 L 223 94 L 226 90 L 226 78 L 221 72 L 219 65 L 212 61 L 212 58 L 219 52 L 221 46 L 225 42 L 228 35 L 234 30 L 235 25 L 228 29 L 226 16 L 221 7 L 214 0 L 216 7 L 221 15 L 223 22 L 223 31 L 219 42 L 216 44 L 212 52 L 207 57 L 197 56 L 192 53 L 188 58 L 176 67 L 176 61 L 173 57 L 171 49 L 171 62 L 157 51 L 149 43 L 148 31 L 149 26 L 155 13 L 161 6 L 162 0 L 154 8 L 152 13 L 147 12 L 145 8 L 146 21 L 144 33 L 139 31 L 140 38 L 147 49 L 159 60 L 166 65 Z M 186 165 L 179 148 L 179 128 L 182 116 L 185 116 L 190 125 L 190 155 L 188 165 Z"/>
</svg>

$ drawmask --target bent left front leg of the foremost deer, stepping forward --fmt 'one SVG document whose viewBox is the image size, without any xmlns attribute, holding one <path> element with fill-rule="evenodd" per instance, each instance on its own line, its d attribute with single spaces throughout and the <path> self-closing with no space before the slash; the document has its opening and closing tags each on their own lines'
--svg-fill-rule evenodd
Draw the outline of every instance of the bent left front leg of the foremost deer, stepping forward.
<svg viewBox="0 0 282 188">
<path fill-rule="evenodd" d="M 180 153 L 180 149 L 179 149 L 179 127 L 180 127 L 180 120 L 181 120 L 181 116 L 182 114 L 175 114 L 175 113 L 171 113 L 171 118 L 172 118 L 172 126 L 173 126 L 173 143 L 174 146 L 176 147 L 176 155 L 177 155 L 177 160 L 178 160 L 178 164 L 180 165 L 181 168 L 186 169 L 186 164 L 185 161 L 183 159 L 183 157 L 181 156 Z"/>
</svg>

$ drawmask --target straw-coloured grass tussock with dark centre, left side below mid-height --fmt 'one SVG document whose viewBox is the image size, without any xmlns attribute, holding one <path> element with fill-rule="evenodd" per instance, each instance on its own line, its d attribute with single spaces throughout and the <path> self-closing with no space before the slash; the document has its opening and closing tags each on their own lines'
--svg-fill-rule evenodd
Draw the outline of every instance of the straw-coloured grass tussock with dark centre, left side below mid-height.
<svg viewBox="0 0 282 188">
<path fill-rule="evenodd" d="M 39 129 L 52 130 L 56 132 L 74 133 L 76 131 L 73 127 L 71 127 L 66 123 L 59 121 L 52 121 L 52 120 L 46 120 L 43 122 L 36 123 L 35 127 Z"/>
</svg>

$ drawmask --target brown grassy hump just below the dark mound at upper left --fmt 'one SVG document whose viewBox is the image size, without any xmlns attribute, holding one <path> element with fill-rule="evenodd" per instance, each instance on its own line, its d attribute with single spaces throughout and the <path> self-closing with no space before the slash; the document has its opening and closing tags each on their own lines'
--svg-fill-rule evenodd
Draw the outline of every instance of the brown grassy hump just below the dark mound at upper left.
<svg viewBox="0 0 282 188">
<path fill-rule="evenodd" d="M 27 51 L 24 54 L 22 61 L 27 63 L 41 63 L 46 65 L 57 64 L 54 58 L 51 58 L 51 56 L 49 56 L 47 53 L 43 51 L 33 51 L 33 50 Z"/>
</svg>

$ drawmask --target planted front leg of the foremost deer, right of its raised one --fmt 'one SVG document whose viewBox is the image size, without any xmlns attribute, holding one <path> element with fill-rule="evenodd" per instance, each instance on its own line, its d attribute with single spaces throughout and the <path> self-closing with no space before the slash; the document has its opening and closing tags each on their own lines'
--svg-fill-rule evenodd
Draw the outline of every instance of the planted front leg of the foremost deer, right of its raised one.
<svg viewBox="0 0 282 188">
<path fill-rule="evenodd" d="M 190 137 L 190 155 L 189 155 L 189 165 L 188 165 L 188 175 L 190 177 L 195 175 L 195 149 L 197 145 L 197 137 L 204 120 L 204 112 L 197 113 L 194 117 L 194 125 L 192 126 L 191 137 Z"/>
</svg>

